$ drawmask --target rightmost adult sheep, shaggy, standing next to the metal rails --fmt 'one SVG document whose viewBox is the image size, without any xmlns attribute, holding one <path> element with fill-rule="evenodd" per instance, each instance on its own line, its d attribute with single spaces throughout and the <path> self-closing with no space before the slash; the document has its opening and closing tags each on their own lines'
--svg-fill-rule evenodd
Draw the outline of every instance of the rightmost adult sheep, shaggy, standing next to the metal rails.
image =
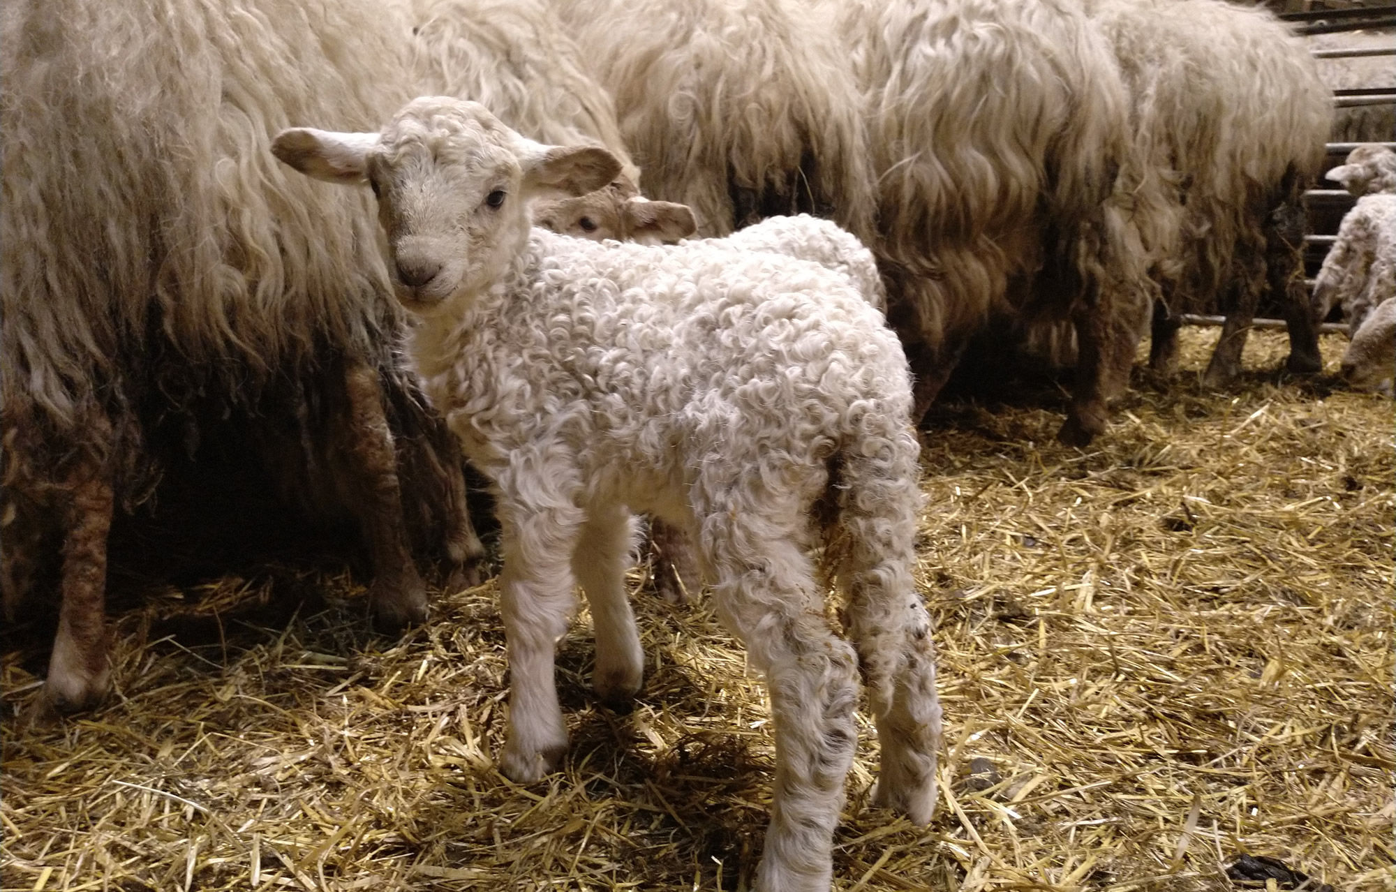
<svg viewBox="0 0 1396 892">
<path fill-rule="evenodd" d="M 1332 95 L 1304 43 L 1270 13 L 1220 0 L 1093 0 L 1131 94 L 1146 173 L 1161 173 L 1173 226 L 1149 244 L 1163 286 L 1150 363 L 1177 363 L 1180 313 L 1226 314 L 1203 381 L 1241 369 L 1262 293 L 1280 299 L 1291 371 L 1316 371 L 1304 293 L 1304 190 L 1323 159 Z M 1226 59 L 1227 64 L 1216 64 Z"/>
</svg>

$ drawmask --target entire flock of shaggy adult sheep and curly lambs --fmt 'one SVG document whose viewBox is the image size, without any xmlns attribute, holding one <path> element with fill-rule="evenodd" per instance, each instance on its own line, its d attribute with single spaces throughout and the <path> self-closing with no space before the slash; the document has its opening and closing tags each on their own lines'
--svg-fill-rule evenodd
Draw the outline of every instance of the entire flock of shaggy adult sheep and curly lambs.
<svg viewBox="0 0 1396 892">
<path fill-rule="evenodd" d="M 1181 313 L 1226 313 L 1206 380 L 1234 376 L 1266 290 L 1291 370 L 1342 303 L 1351 377 L 1390 374 L 1396 155 L 1333 172 L 1372 194 L 1311 304 L 1332 102 L 1261 10 L 22 0 L 3 27 L 0 593 L 60 592 L 47 702 L 109 687 L 113 514 L 228 419 L 289 504 L 359 525 L 389 628 L 427 617 L 417 561 L 477 579 L 463 451 L 503 528 L 501 769 L 567 745 L 577 583 L 597 692 L 638 691 L 651 514 L 660 585 L 701 572 L 771 690 L 762 889 L 829 886 L 860 673 L 875 801 L 931 817 L 913 426 L 970 338 L 1074 356 L 1069 444 L 1146 329 L 1171 367 Z"/>
</svg>

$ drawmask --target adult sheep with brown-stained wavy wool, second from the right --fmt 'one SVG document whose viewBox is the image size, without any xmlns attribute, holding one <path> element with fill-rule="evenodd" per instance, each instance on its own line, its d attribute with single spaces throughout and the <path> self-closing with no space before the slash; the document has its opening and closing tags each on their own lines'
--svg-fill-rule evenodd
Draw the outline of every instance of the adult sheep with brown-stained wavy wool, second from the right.
<svg viewBox="0 0 1396 892">
<path fill-rule="evenodd" d="M 1124 388 L 1160 223 L 1110 47 L 1067 0 L 825 0 L 863 91 L 888 318 L 917 412 L 994 317 L 1069 320 L 1082 369 L 1061 438 L 1082 444 Z"/>
</svg>

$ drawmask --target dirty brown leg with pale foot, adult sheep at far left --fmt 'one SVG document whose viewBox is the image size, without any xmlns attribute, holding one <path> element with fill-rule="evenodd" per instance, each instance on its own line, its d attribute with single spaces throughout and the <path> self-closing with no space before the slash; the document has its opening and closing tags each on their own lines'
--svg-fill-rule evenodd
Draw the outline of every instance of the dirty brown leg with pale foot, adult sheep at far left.
<svg viewBox="0 0 1396 892">
<path fill-rule="evenodd" d="M 105 422 L 103 422 L 105 426 Z M 109 429 L 107 429 L 109 430 Z M 64 490 L 61 606 L 43 694 L 63 712 L 106 697 L 112 666 L 106 631 L 106 539 L 112 530 L 112 482 L 96 456 L 78 459 Z"/>
</svg>

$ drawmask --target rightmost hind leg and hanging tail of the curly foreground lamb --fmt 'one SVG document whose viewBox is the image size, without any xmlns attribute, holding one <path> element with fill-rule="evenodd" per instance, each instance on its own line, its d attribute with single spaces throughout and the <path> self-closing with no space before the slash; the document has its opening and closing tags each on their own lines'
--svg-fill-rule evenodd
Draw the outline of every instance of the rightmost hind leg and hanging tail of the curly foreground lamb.
<svg viewBox="0 0 1396 892">
<path fill-rule="evenodd" d="M 912 578 L 919 445 L 895 413 L 868 412 L 857 429 L 831 466 L 826 554 L 882 744 L 874 801 L 924 824 L 935 810 L 941 706 L 931 620 Z"/>
</svg>

